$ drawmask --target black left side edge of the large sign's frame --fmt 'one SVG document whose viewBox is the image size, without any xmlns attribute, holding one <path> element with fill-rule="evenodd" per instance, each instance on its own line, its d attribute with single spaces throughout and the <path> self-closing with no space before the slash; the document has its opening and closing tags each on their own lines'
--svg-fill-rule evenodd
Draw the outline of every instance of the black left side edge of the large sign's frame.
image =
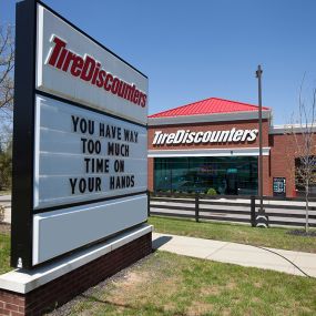
<svg viewBox="0 0 316 316">
<path fill-rule="evenodd" d="M 14 162 L 12 165 L 10 264 L 12 267 L 31 268 L 33 253 L 33 126 L 35 119 L 33 104 L 35 102 L 37 0 L 18 2 L 16 8 Z M 31 80 L 24 80 L 26 73 Z M 24 210 L 24 212 L 19 212 L 19 210 Z"/>
</svg>

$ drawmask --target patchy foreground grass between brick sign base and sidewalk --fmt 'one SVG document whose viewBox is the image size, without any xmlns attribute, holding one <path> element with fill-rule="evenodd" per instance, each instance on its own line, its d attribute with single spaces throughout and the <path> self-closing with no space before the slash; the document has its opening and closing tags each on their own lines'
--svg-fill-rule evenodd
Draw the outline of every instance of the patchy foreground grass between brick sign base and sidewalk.
<svg viewBox="0 0 316 316">
<path fill-rule="evenodd" d="M 316 315 L 316 279 L 156 252 L 52 315 Z"/>
</svg>

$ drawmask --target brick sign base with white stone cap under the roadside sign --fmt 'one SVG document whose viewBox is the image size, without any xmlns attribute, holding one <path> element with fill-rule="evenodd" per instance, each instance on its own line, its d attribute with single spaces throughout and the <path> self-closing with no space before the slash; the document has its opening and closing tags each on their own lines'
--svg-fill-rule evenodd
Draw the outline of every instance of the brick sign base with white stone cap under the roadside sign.
<svg viewBox="0 0 316 316">
<path fill-rule="evenodd" d="M 0 275 L 0 314 L 42 315 L 152 252 L 152 225 L 32 271 Z"/>
</svg>

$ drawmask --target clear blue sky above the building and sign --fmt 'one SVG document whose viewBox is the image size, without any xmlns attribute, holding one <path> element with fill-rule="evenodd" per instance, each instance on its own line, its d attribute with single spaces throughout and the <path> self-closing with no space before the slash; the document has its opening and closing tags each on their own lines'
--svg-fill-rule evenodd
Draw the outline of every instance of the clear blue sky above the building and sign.
<svg viewBox="0 0 316 316">
<path fill-rule="evenodd" d="M 276 124 L 316 86 L 315 0 L 44 0 L 150 78 L 149 112 L 216 96 L 263 103 Z M 88 7 L 89 3 L 89 7 Z M 14 22 L 14 1 L 0 0 Z"/>
</svg>

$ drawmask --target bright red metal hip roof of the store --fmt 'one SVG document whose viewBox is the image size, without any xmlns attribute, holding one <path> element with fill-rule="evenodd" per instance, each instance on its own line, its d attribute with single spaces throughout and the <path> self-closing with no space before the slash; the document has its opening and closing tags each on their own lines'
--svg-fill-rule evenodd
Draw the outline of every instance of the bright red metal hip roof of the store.
<svg viewBox="0 0 316 316">
<path fill-rule="evenodd" d="M 271 110 L 263 106 L 264 111 Z M 210 98 L 175 109 L 166 110 L 156 114 L 149 115 L 151 119 L 170 118 L 170 116 L 185 116 L 185 115 L 204 115 L 215 113 L 232 113 L 232 112 L 249 112 L 258 111 L 258 106 L 236 101 L 230 101 L 218 98 Z"/>
</svg>

